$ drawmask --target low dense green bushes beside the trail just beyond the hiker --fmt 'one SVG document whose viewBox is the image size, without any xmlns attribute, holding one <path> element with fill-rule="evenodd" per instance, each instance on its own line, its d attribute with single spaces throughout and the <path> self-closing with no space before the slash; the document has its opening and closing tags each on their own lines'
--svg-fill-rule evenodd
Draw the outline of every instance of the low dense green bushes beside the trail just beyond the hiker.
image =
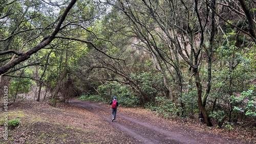
<svg viewBox="0 0 256 144">
<path fill-rule="evenodd" d="M 141 90 L 148 98 L 154 100 L 161 91 L 165 90 L 163 77 L 161 74 L 141 73 L 139 75 L 131 74 L 132 79 L 137 82 Z M 121 85 L 118 82 L 110 82 L 98 86 L 98 95 L 91 95 L 90 92 L 83 94 L 81 100 L 90 100 L 97 102 L 110 102 L 113 97 L 117 97 L 120 105 L 127 107 L 137 107 L 141 105 L 144 98 L 141 97 L 129 85 Z"/>
</svg>

